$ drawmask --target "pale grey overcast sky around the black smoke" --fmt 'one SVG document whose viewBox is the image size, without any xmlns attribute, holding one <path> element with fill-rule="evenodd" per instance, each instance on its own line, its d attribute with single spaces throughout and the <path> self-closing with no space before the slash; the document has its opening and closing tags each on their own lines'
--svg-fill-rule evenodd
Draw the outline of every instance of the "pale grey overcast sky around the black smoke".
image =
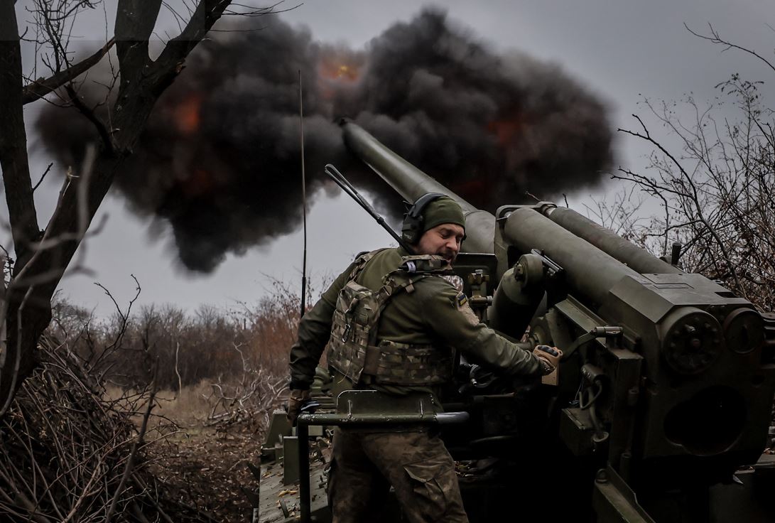
<svg viewBox="0 0 775 523">
<path fill-rule="evenodd" d="M 710 100 L 716 95 L 714 85 L 732 72 L 766 81 L 765 95 L 773 94 L 772 71 L 744 53 L 723 52 L 722 46 L 684 29 L 685 22 L 692 29 L 707 32 L 710 22 L 729 40 L 772 57 L 772 0 L 451 0 L 430 5 L 446 9 L 456 24 L 469 28 L 498 52 L 518 50 L 560 65 L 608 102 L 614 128 L 632 128 L 633 112 L 645 115 L 637 105 L 642 96 L 673 100 L 692 91 L 698 101 Z M 315 40 L 361 48 L 394 22 L 412 19 L 421 7 L 421 3 L 407 0 L 305 0 L 298 9 L 277 18 L 294 26 L 308 26 Z M 263 21 L 271 25 L 274 19 Z M 96 33 L 105 33 L 104 22 L 96 26 Z M 164 29 L 160 26 L 157 29 Z M 108 27 L 112 29 L 112 21 Z M 644 144 L 626 136 L 616 139 L 616 165 L 642 168 L 646 163 L 643 155 L 649 151 Z M 33 177 L 49 161 L 40 148 L 33 148 Z M 39 214 L 42 222 L 59 183 L 50 177 L 36 193 L 43 208 Z M 610 184 L 596 190 L 594 196 L 599 198 L 606 191 L 611 191 Z M 571 205 L 581 205 L 591 194 L 570 194 Z M 93 282 L 104 284 L 126 305 L 134 294 L 130 274 L 143 287 L 140 305 L 169 302 L 189 310 L 202 303 L 253 303 L 267 294 L 272 280 L 293 285 L 300 280 L 301 232 L 249 249 L 243 256 L 229 255 L 212 274 L 202 275 L 181 269 L 164 225 L 151 225 L 146 218 L 133 215 L 120 196 L 108 195 L 94 223 L 100 222 L 102 215 L 107 216 L 104 228 L 88 239 L 80 253 L 91 274 L 65 277 L 60 287 L 70 301 L 98 315 L 109 314 L 112 305 Z M 390 243 L 387 234 L 352 201 L 323 195 L 308 215 L 308 241 L 313 282 L 338 273 L 355 253 Z"/>
</svg>

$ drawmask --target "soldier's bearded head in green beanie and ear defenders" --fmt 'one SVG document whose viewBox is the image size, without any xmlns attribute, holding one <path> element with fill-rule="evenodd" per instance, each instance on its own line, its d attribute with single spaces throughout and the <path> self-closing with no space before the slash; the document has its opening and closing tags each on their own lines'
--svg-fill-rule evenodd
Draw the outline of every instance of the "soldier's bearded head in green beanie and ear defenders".
<svg viewBox="0 0 775 523">
<path fill-rule="evenodd" d="M 406 213 L 401 239 L 417 254 L 454 261 L 466 235 L 466 218 L 456 201 L 438 193 L 423 194 Z"/>
</svg>

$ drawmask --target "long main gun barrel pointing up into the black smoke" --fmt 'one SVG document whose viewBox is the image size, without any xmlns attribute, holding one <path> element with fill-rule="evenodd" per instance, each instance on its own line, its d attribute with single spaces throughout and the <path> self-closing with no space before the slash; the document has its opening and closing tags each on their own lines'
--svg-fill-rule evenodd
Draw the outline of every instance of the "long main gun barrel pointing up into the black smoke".
<svg viewBox="0 0 775 523">
<path fill-rule="evenodd" d="M 413 166 L 412 163 L 399 157 L 362 127 L 347 119 L 342 119 L 339 125 L 342 126 L 346 146 L 403 198 L 415 201 L 422 194 L 439 192 L 446 194 L 463 208 L 463 214 L 466 216 L 466 240 L 463 242 L 463 251 L 469 253 L 494 252 L 494 215 L 482 211 L 460 198 L 453 191 Z"/>
</svg>

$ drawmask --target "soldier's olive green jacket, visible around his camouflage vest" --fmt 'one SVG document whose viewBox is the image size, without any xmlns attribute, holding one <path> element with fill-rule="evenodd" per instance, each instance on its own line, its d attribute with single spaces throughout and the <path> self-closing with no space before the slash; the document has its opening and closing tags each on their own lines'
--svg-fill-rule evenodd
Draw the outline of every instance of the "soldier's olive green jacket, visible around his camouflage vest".
<svg viewBox="0 0 775 523">
<path fill-rule="evenodd" d="M 401 265 L 404 249 L 384 249 L 369 260 L 356 282 L 378 291 L 382 278 Z M 315 367 L 331 334 L 336 298 L 352 274 L 354 263 L 334 280 L 298 327 L 298 340 L 291 347 L 291 388 L 308 389 Z M 539 376 L 542 366 L 532 353 L 521 349 L 478 322 L 463 296 L 441 277 L 429 276 L 415 283 L 411 294 L 394 295 L 382 311 L 378 340 L 418 345 L 449 346 L 460 350 L 471 363 L 501 373 Z M 370 387 L 394 393 L 418 391 L 417 387 Z"/>
</svg>

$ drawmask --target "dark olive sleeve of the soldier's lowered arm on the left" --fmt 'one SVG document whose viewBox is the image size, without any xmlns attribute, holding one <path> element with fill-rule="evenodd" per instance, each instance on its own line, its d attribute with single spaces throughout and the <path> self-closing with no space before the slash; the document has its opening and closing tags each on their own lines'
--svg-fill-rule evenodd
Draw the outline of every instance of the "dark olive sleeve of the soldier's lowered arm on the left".
<svg viewBox="0 0 775 523">
<path fill-rule="evenodd" d="M 336 298 L 347 283 L 354 265 L 336 277 L 321 298 L 306 312 L 298 324 L 298 338 L 291 347 L 291 389 L 306 390 L 312 385 L 315 367 L 320 362 L 325 344 L 331 335 L 331 323 L 336 309 Z"/>
</svg>

